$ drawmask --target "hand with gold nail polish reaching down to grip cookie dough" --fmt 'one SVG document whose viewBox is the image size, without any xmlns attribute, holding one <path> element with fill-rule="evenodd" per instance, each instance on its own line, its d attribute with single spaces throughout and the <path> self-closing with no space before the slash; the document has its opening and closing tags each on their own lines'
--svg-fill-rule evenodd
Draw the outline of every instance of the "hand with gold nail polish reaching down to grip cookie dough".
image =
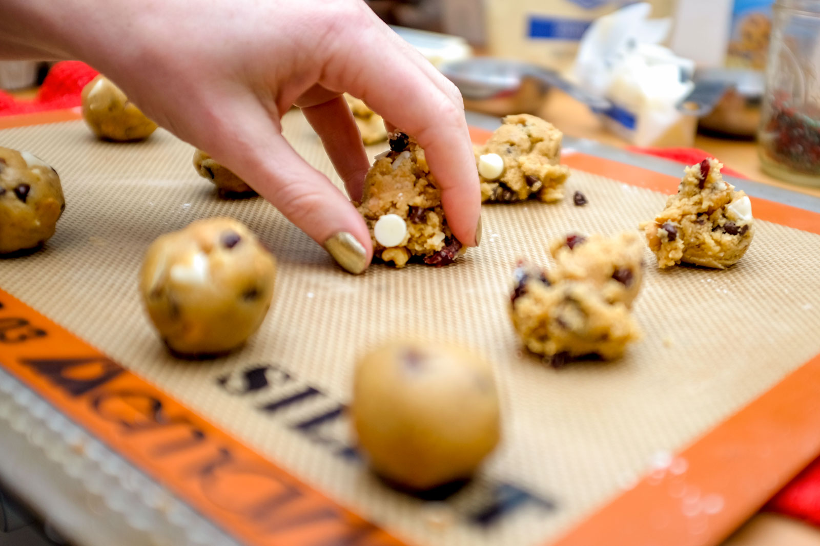
<svg viewBox="0 0 820 546">
<path fill-rule="evenodd" d="M 367 264 L 362 217 L 281 135 L 281 116 L 301 107 L 358 200 L 369 162 L 347 91 L 425 148 L 453 234 L 478 243 L 461 95 L 362 0 L 0 0 L 0 58 L 88 62 L 317 243 L 352 234 Z"/>
</svg>

